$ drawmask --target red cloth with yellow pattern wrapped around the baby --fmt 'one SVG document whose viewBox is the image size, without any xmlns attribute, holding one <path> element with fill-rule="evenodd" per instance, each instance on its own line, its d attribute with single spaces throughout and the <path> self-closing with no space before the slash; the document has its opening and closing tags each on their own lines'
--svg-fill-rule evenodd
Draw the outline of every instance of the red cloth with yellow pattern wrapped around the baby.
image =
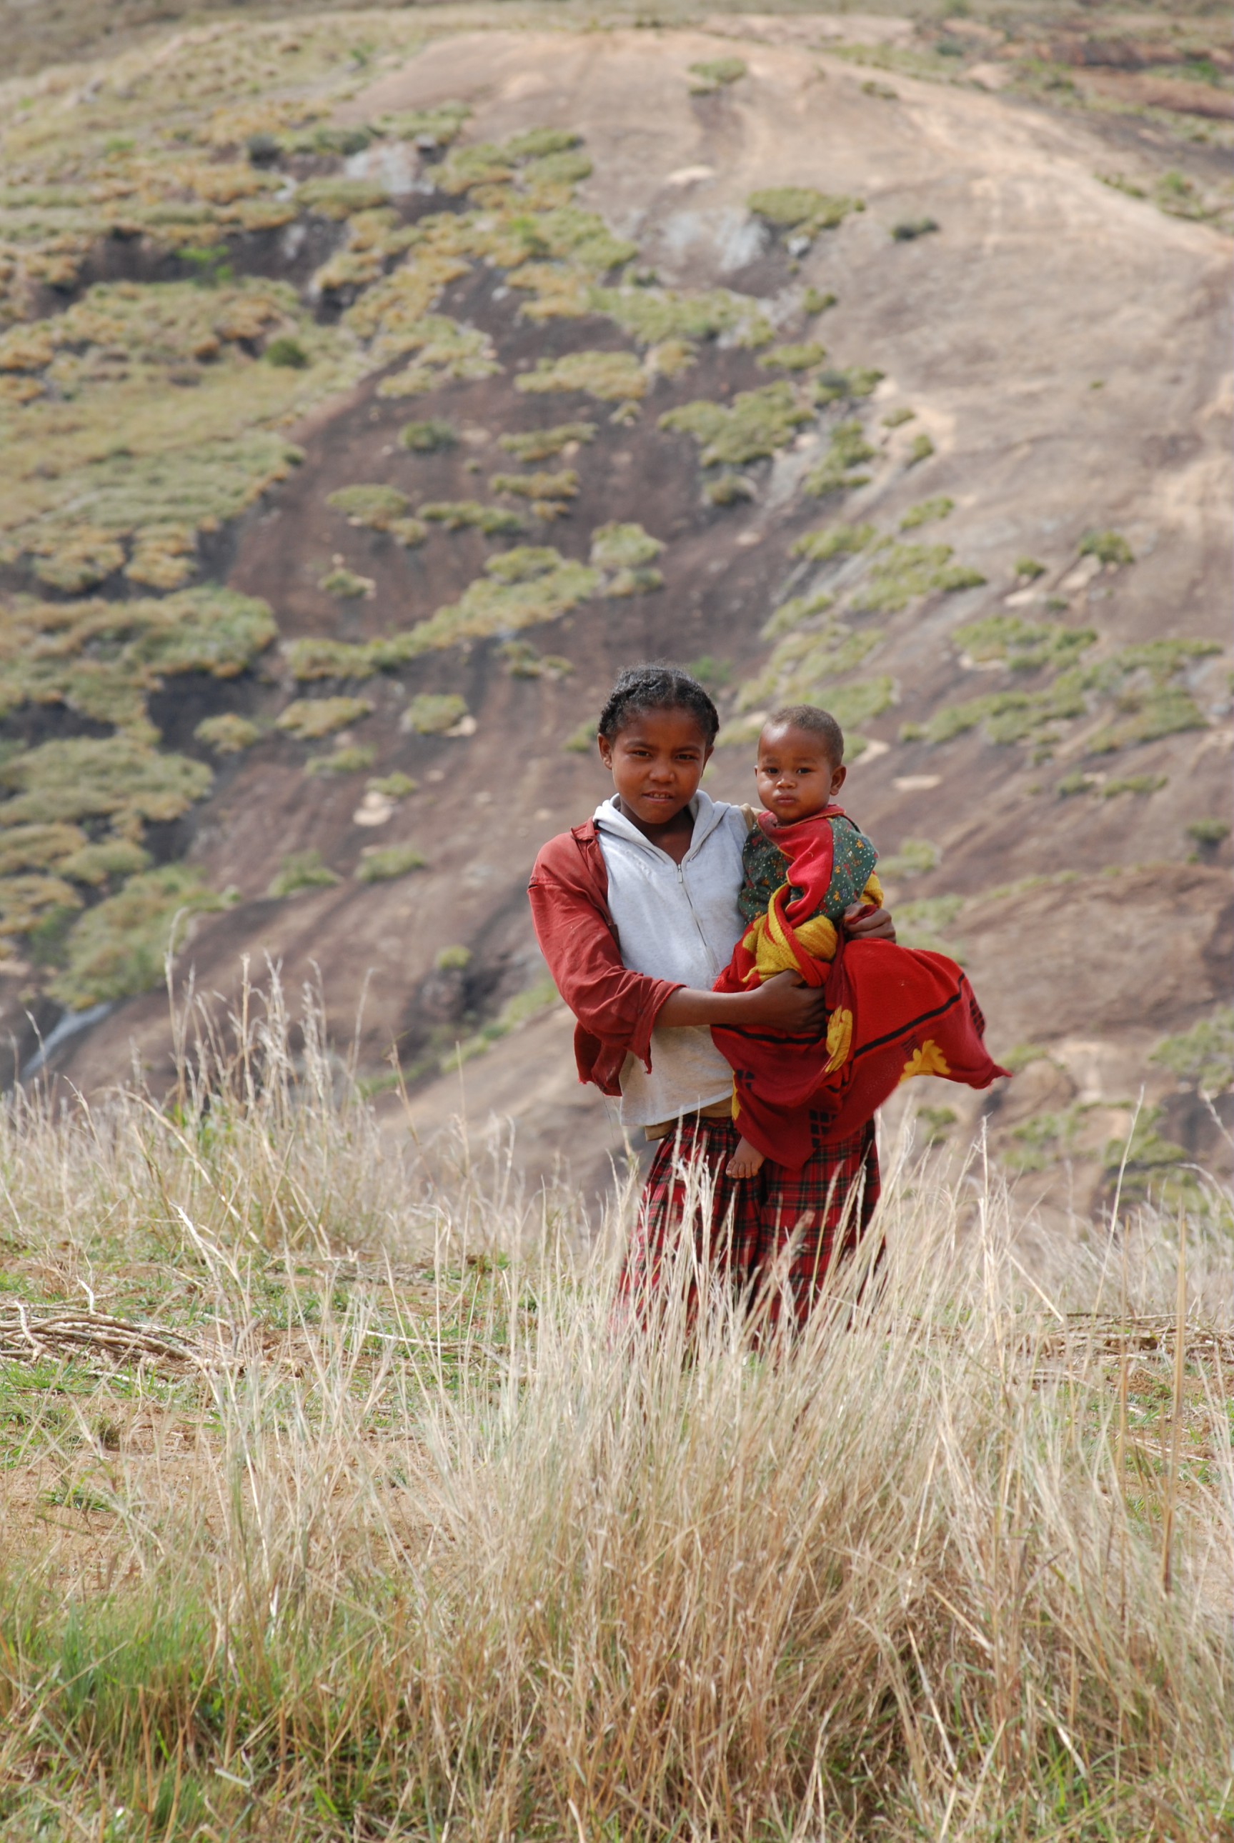
<svg viewBox="0 0 1234 1843">
<path fill-rule="evenodd" d="M 788 857 L 788 881 L 716 980 L 718 992 L 747 992 L 795 966 L 806 984 L 825 986 L 828 1023 L 821 1038 L 712 1030 L 732 1065 L 738 1128 L 765 1157 L 788 1167 L 858 1132 L 915 1074 L 943 1074 L 968 1087 L 989 1087 L 1007 1074 L 987 1054 L 985 1019 L 954 960 L 882 940 L 845 944 L 843 929 L 817 914 L 832 879 L 828 818 L 837 811 L 784 828 L 760 816 Z M 789 885 L 799 898 L 789 899 Z M 828 966 L 819 949 L 830 953 L 832 942 Z"/>
</svg>

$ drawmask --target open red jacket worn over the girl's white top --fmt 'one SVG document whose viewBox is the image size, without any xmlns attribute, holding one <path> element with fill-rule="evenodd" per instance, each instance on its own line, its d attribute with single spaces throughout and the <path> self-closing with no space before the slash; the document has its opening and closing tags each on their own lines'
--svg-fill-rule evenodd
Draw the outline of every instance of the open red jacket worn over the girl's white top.
<svg viewBox="0 0 1234 1843">
<path fill-rule="evenodd" d="M 609 868 L 596 822 L 550 839 L 535 861 L 531 922 L 557 992 L 577 1025 L 574 1060 L 579 1082 L 603 1095 L 620 1095 L 627 1054 L 651 1067 L 651 1030 L 681 984 L 633 973 L 622 962 L 618 931 L 609 910 Z"/>
</svg>

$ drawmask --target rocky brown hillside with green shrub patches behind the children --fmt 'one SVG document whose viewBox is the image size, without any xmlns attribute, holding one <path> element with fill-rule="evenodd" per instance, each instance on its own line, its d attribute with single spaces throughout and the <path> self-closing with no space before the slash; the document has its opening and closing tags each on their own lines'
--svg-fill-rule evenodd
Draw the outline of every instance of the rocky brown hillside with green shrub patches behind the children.
<svg viewBox="0 0 1234 1843">
<path fill-rule="evenodd" d="M 9 83 L 13 1073 L 166 1086 L 172 936 L 319 980 L 417 1132 L 463 1078 L 601 1178 L 524 883 L 671 656 L 718 796 L 760 711 L 841 717 L 1020 1069 L 919 1139 L 1088 1207 L 1144 1089 L 1129 1189 L 1219 1165 L 1230 87 L 1136 29 L 314 13 Z"/>
</svg>

